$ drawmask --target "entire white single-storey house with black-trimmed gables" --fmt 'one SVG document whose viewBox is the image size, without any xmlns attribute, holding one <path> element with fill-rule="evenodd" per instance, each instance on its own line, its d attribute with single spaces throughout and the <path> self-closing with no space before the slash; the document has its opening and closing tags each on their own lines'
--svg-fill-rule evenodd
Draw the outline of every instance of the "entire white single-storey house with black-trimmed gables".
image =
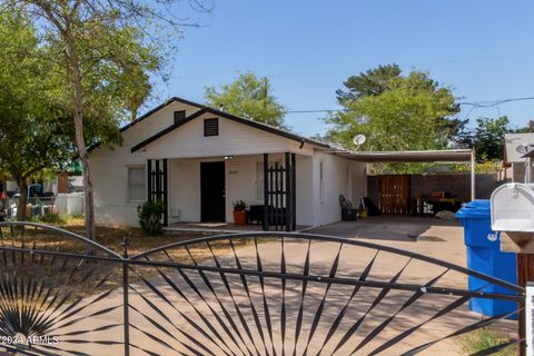
<svg viewBox="0 0 534 356">
<path fill-rule="evenodd" d="M 233 222 L 233 201 L 243 199 L 264 228 L 295 229 L 340 220 L 340 194 L 353 201 L 366 195 L 365 162 L 179 98 L 123 127 L 122 136 L 122 146 L 90 154 L 99 224 L 137 226 L 147 199 L 166 201 L 169 225 Z"/>
</svg>

